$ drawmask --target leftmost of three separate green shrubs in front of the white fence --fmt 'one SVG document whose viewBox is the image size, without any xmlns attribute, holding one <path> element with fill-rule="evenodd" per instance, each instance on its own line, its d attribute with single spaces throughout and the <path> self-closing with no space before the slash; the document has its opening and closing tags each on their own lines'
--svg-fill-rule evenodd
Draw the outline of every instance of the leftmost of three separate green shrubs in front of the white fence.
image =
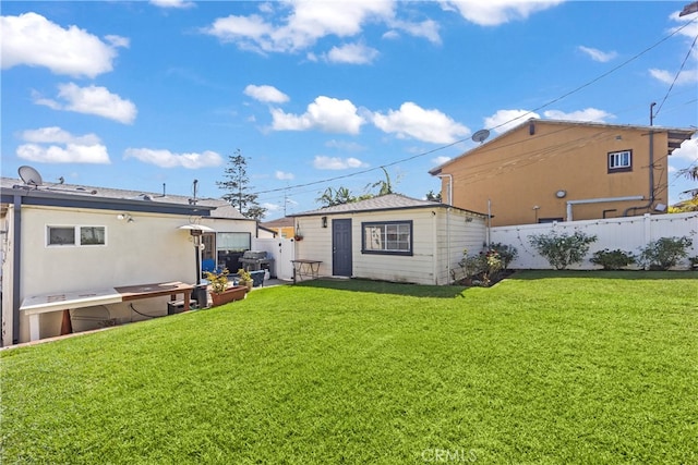
<svg viewBox="0 0 698 465">
<path fill-rule="evenodd" d="M 551 231 L 547 234 L 531 235 L 528 240 L 552 267 L 556 270 L 564 270 L 568 266 L 583 260 L 589 252 L 589 244 L 595 242 L 597 236 L 587 235 L 580 231 L 575 231 L 571 235 Z"/>
</svg>

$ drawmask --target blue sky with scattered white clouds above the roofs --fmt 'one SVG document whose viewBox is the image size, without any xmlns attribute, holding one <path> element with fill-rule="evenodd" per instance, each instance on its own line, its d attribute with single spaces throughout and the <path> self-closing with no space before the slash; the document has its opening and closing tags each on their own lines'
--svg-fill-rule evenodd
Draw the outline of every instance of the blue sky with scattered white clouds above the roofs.
<svg viewBox="0 0 698 465">
<path fill-rule="evenodd" d="M 2 175 L 220 197 L 240 149 L 266 219 L 381 167 L 421 198 L 481 129 L 646 125 L 651 102 L 655 125 L 696 127 L 687 3 L 3 1 Z M 697 162 L 696 139 L 670 158 L 672 203 Z"/>
</svg>

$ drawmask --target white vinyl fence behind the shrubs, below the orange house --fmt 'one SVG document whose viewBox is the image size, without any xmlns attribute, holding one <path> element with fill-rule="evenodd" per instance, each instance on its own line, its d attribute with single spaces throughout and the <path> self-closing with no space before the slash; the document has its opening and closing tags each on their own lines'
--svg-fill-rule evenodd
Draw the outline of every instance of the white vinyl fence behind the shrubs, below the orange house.
<svg viewBox="0 0 698 465">
<path fill-rule="evenodd" d="M 619 248 L 638 255 L 641 248 L 661 237 L 689 237 L 693 240 L 693 246 L 688 250 L 688 256 L 698 256 L 697 212 L 497 227 L 491 229 L 490 240 L 492 243 L 502 243 L 517 248 L 518 256 L 509 265 L 512 269 L 551 269 L 547 260 L 538 255 L 529 242 L 529 236 L 546 234 L 550 231 L 566 234 L 580 231 L 587 235 L 597 236 L 597 242 L 591 244 L 585 260 L 581 264 L 570 266 L 569 269 L 599 269 L 601 267 L 589 261 L 594 252 L 604 248 L 610 250 Z M 684 259 L 676 269 L 687 269 L 688 267 L 688 260 Z"/>
</svg>

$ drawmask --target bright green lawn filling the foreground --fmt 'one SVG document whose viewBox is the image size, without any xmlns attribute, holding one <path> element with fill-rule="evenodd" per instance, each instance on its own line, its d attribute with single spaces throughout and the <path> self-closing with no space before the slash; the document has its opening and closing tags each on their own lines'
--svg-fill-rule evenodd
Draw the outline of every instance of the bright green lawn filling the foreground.
<svg viewBox="0 0 698 465">
<path fill-rule="evenodd" d="M 0 353 L 13 463 L 696 463 L 698 280 L 314 281 Z"/>
</svg>

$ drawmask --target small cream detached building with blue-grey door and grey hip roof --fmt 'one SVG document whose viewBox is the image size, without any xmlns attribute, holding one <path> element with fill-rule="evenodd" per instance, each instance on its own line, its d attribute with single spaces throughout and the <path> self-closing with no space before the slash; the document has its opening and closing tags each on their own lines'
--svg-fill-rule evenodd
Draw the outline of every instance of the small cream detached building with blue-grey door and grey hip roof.
<svg viewBox="0 0 698 465">
<path fill-rule="evenodd" d="M 486 215 L 399 194 L 291 217 L 296 259 L 327 277 L 449 284 L 464 249 L 486 243 Z"/>
</svg>

